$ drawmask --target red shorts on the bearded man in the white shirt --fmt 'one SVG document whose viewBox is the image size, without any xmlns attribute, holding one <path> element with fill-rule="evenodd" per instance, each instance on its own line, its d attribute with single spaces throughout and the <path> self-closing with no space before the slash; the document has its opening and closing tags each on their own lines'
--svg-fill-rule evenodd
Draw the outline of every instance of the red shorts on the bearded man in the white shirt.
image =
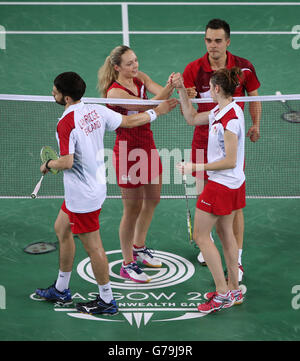
<svg viewBox="0 0 300 361">
<path fill-rule="evenodd" d="M 89 213 L 73 213 L 67 209 L 64 201 L 61 209 L 69 216 L 73 234 L 90 233 L 97 231 L 100 228 L 99 214 L 101 208 Z"/>
</svg>

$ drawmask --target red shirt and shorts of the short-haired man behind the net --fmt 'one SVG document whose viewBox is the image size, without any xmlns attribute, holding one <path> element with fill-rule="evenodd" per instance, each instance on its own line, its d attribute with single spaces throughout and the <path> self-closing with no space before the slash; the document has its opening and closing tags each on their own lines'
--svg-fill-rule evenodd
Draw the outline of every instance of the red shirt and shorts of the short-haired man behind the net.
<svg viewBox="0 0 300 361">
<path fill-rule="evenodd" d="M 239 56 L 231 54 L 227 51 L 227 64 L 228 69 L 232 67 L 239 67 L 243 72 L 240 85 L 236 88 L 233 96 L 241 97 L 245 96 L 246 92 L 249 93 L 260 87 L 260 82 L 256 76 L 254 66 L 247 59 L 240 58 Z M 197 59 L 189 63 L 184 72 L 183 79 L 186 88 L 196 87 L 197 98 L 211 98 L 209 91 L 209 81 L 214 71 L 212 70 L 208 53 L 202 58 Z M 242 109 L 244 109 L 244 103 L 238 103 Z M 213 109 L 216 106 L 215 103 L 199 103 L 198 112 L 205 112 Z M 207 144 L 208 144 L 208 125 L 199 125 L 195 127 L 194 136 L 192 141 L 192 162 L 201 163 L 201 158 L 198 156 L 197 149 L 204 150 L 204 162 L 207 161 Z M 199 153 L 200 154 L 200 153 Z M 202 153 L 201 153 L 202 154 Z M 200 155 L 201 155 L 200 154 Z M 195 176 L 195 173 L 193 173 Z M 208 176 L 205 174 L 205 179 Z"/>
</svg>

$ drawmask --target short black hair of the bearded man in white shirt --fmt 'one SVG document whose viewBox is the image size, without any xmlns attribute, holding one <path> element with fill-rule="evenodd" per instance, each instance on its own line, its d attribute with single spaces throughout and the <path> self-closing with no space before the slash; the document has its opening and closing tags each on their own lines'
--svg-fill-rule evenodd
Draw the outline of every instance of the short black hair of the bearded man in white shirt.
<svg viewBox="0 0 300 361">
<path fill-rule="evenodd" d="M 84 80 L 72 71 L 59 74 L 54 79 L 54 85 L 62 95 L 69 96 L 73 100 L 80 100 L 86 89 Z"/>
</svg>

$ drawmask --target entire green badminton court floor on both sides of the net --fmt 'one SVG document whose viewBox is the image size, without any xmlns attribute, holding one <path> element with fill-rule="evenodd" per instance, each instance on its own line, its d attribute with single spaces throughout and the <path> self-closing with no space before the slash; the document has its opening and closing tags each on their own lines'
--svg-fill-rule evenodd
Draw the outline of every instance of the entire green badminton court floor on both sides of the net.
<svg viewBox="0 0 300 361">
<path fill-rule="evenodd" d="M 260 95 L 271 95 L 276 90 L 296 94 L 300 79 L 295 69 L 300 49 L 292 46 L 298 35 L 291 30 L 299 23 L 298 5 L 130 4 L 127 28 L 124 28 L 121 5 L 24 3 L 21 6 L 0 2 L 0 25 L 6 30 L 5 49 L 0 46 L 0 93 L 51 95 L 54 77 L 72 70 L 86 80 L 86 96 L 98 97 L 97 70 L 123 39 L 130 42 L 138 55 L 140 69 L 164 84 L 172 71 L 182 72 L 187 63 L 204 54 L 203 34 L 198 32 L 204 31 L 209 19 L 221 17 L 231 24 L 233 32 L 229 50 L 254 64 L 261 81 Z M 35 120 L 38 116 L 37 110 Z M 280 119 L 279 113 L 277 118 Z M 271 120 L 280 122 L 277 118 Z M 1 141 L 1 179 L 14 167 L 22 167 L 19 159 L 26 126 L 31 129 L 32 144 L 43 139 L 40 130 L 35 132 L 31 119 L 26 117 L 21 121 L 22 126 L 17 125 L 15 131 L 9 129 Z M 259 143 L 251 151 L 254 158 L 247 159 L 247 162 L 253 159 L 259 162 L 263 149 L 268 155 L 265 158 L 268 164 L 258 166 L 266 168 L 264 177 L 257 179 L 255 173 L 249 174 L 247 186 L 258 182 L 263 189 L 259 197 L 269 188 L 275 193 L 292 189 L 292 197 L 300 196 L 299 170 L 293 172 L 290 158 L 284 157 L 289 153 L 282 157 L 280 171 L 292 174 L 291 186 L 282 182 L 282 177 L 276 179 L 277 170 L 272 169 L 276 152 L 288 152 L 289 137 L 294 142 L 299 134 L 299 124 L 293 124 L 292 130 L 289 125 L 274 123 L 276 138 L 262 131 Z M 262 130 L 269 129 L 264 127 Z M 4 128 L 0 129 L 4 134 Z M 283 151 L 280 151 L 283 144 L 280 130 L 286 136 Z M 49 137 L 55 145 L 54 131 Z M 31 156 L 39 148 L 33 145 Z M 291 144 L 291 149 L 293 164 L 299 164 L 299 142 Z M 36 169 L 24 176 L 24 184 L 34 184 L 38 167 L 39 161 Z M 5 191 L 18 193 L 13 176 L 3 184 L 2 196 Z M 188 244 L 184 199 L 162 199 L 156 209 L 148 246 L 162 258 L 163 267 L 146 271 L 152 275 L 152 282 L 147 285 L 125 282 L 118 276 L 122 260 L 118 238 L 122 203 L 120 199 L 105 201 L 100 215 L 101 236 L 110 262 L 113 292 L 119 303 L 118 315 L 84 316 L 72 306 L 64 309 L 36 300 L 34 290 L 48 287 L 57 277 L 58 251 L 28 255 L 23 248 L 31 242 L 56 241 L 53 224 L 61 203 L 61 199 L 0 200 L 0 340 L 177 341 L 178 344 L 208 340 L 300 340 L 299 198 L 247 200 L 243 253 L 245 302 L 204 317 L 200 317 L 196 307 L 204 293 L 213 290 L 213 281 L 209 270 L 197 262 L 198 249 Z M 194 213 L 194 199 L 190 205 Z M 93 298 L 97 285 L 79 239 L 76 244 L 71 290 L 74 302 L 80 302 Z M 220 248 L 218 240 L 217 245 Z"/>
</svg>

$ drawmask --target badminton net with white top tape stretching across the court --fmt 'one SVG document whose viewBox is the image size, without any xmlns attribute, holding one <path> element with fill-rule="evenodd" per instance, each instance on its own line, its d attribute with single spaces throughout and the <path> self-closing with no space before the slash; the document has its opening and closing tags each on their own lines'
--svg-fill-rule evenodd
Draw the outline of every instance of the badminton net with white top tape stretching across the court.
<svg viewBox="0 0 300 361">
<path fill-rule="evenodd" d="M 260 139 L 245 141 L 246 194 L 248 198 L 300 197 L 300 95 L 236 98 L 245 103 L 245 128 L 252 125 L 249 104 L 262 105 Z M 157 105 L 159 101 L 83 98 L 86 103 Z M 211 99 L 194 99 L 211 102 Z M 30 198 L 40 178 L 40 149 L 49 145 L 58 150 L 56 124 L 63 107 L 52 97 L 0 95 L 1 198 Z M 194 128 L 188 126 L 177 106 L 151 123 L 156 148 L 163 166 L 162 198 L 183 198 L 182 177 L 175 169 L 182 159 L 188 161 Z M 113 167 L 115 132 L 104 138 L 108 198 L 120 197 Z M 63 198 L 62 172 L 51 174 L 43 182 L 40 198 Z M 196 195 L 195 178 L 187 178 L 188 195 Z"/>
</svg>

